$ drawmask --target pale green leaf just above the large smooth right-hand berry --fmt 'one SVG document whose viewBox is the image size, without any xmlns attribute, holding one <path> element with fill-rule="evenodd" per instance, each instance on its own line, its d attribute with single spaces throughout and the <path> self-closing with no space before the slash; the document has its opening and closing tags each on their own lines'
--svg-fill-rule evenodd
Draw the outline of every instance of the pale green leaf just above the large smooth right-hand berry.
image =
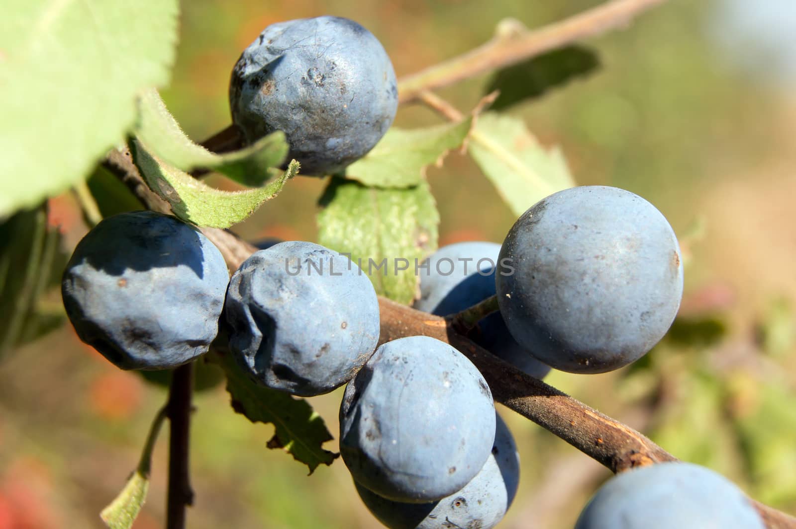
<svg viewBox="0 0 796 529">
<path fill-rule="evenodd" d="M 560 150 L 544 149 L 521 119 L 482 114 L 470 133 L 469 152 L 517 217 L 575 185 Z"/>
</svg>

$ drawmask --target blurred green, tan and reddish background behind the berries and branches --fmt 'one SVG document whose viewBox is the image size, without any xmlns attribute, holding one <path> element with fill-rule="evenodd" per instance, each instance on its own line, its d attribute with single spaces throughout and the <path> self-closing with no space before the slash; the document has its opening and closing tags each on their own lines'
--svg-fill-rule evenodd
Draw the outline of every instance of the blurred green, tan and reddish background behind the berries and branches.
<svg viewBox="0 0 796 529">
<path fill-rule="evenodd" d="M 369 28 L 399 76 L 488 40 L 514 17 L 534 27 L 599 2 L 267 0 L 182 2 L 174 78 L 162 93 L 197 140 L 228 125 L 229 72 L 275 21 L 334 14 Z M 669 218 L 687 257 L 685 299 L 669 337 L 615 373 L 552 373 L 548 382 L 708 465 L 752 496 L 796 513 L 796 4 L 672 0 L 628 29 L 587 43 L 590 75 L 514 107 L 544 145 L 560 145 L 578 183 L 625 187 Z M 440 92 L 469 110 L 485 75 Z M 396 124 L 439 117 L 406 106 Z M 513 216 L 478 168 L 453 154 L 428 179 L 440 244 L 501 241 Z M 217 185 L 225 185 L 216 182 Z M 314 240 L 324 183 L 299 178 L 238 233 Z M 84 233 L 68 195 L 51 221 L 74 245 Z M 57 292 L 45 299 L 58 311 Z M 212 381 L 210 368 L 206 380 Z M 341 461 L 306 467 L 268 450 L 271 427 L 232 412 L 221 385 L 197 393 L 189 527 L 380 527 Z M 330 431 L 341 392 L 311 399 Z M 101 527 L 97 515 L 135 468 L 162 386 L 120 372 L 68 326 L 0 361 L 0 528 Z M 572 527 L 610 476 L 510 412 L 521 488 L 501 527 Z M 164 432 L 166 433 L 166 432 Z M 137 529 L 162 527 L 166 438 Z M 336 450 L 336 441 L 327 443 Z"/>
</svg>

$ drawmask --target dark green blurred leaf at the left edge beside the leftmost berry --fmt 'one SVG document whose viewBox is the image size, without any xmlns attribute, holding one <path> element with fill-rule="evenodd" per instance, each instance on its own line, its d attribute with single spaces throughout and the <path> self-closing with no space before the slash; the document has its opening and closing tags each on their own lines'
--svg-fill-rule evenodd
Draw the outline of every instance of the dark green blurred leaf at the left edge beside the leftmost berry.
<svg viewBox="0 0 796 529">
<path fill-rule="evenodd" d="M 0 356 L 63 322 L 60 307 L 47 313 L 37 302 L 60 284 L 65 264 L 60 234 L 47 226 L 45 206 L 21 210 L 0 224 Z"/>
</svg>

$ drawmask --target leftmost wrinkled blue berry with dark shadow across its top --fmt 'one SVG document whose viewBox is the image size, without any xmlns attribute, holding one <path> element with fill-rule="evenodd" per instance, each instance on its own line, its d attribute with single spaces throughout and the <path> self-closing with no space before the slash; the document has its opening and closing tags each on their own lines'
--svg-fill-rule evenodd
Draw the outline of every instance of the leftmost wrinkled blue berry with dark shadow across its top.
<svg viewBox="0 0 796 529">
<path fill-rule="evenodd" d="M 206 353 L 229 272 L 204 234 L 131 211 L 103 219 L 64 271 L 66 313 L 81 340 L 121 369 L 170 369 Z"/>
</svg>

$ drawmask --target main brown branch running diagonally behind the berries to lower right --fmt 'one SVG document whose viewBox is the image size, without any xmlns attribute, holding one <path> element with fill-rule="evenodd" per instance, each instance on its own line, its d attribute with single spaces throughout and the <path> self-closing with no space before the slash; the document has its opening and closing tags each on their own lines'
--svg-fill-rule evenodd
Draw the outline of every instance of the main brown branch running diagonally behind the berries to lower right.
<svg viewBox="0 0 796 529">
<path fill-rule="evenodd" d="M 146 205 L 151 201 L 157 207 L 160 197 L 146 187 L 132 160 L 128 157 L 130 164 L 127 164 L 119 163 L 118 156 L 114 158 L 116 162 L 110 164 L 108 161 L 106 166 L 127 184 L 142 203 Z M 123 171 L 122 168 L 126 170 Z M 219 249 L 230 270 L 236 270 L 256 251 L 254 246 L 241 241 L 228 231 L 213 228 L 202 231 L 213 242 L 221 241 Z M 380 343 L 406 336 L 424 335 L 451 344 L 483 373 L 497 402 L 556 434 L 611 471 L 622 472 L 634 466 L 677 461 L 672 454 L 633 428 L 603 415 L 533 376 L 522 373 L 513 365 L 458 334 L 452 319 L 446 320 L 416 311 L 385 298 L 379 299 L 379 307 Z M 768 529 L 796 529 L 796 518 L 755 500 L 753 503 Z"/>
</svg>

